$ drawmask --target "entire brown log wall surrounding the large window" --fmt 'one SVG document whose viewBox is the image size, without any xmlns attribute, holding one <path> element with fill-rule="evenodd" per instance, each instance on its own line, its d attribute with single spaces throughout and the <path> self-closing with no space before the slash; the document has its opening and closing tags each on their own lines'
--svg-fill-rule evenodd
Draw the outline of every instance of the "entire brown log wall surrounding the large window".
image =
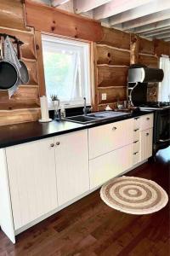
<svg viewBox="0 0 170 256">
<path fill-rule="evenodd" d="M 34 121 L 40 117 L 39 96 L 45 94 L 41 32 L 80 38 L 94 45 L 94 110 L 102 110 L 108 103 L 115 108 L 117 99 L 126 99 L 130 64 L 139 62 L 156 67 L 160 55 L 170 55 L 169 43 L 150 42 L 103 27 L 94 20 L 28 0 L 25 1 L 25 10 L 22 2 L 0 1 L 0 32 L 15 35 L 25 43 L 21 49 L 22 60 L 26 62 L 31 79 L 29 84 L 20 85 L 10 100 L 0 93 L 0 125 Z M 42 17 L 46 18 L 45 22 L 42 22 Z M 106 100 L 103 100 L 102 94 L 105 93 Z"/>
</svg>

